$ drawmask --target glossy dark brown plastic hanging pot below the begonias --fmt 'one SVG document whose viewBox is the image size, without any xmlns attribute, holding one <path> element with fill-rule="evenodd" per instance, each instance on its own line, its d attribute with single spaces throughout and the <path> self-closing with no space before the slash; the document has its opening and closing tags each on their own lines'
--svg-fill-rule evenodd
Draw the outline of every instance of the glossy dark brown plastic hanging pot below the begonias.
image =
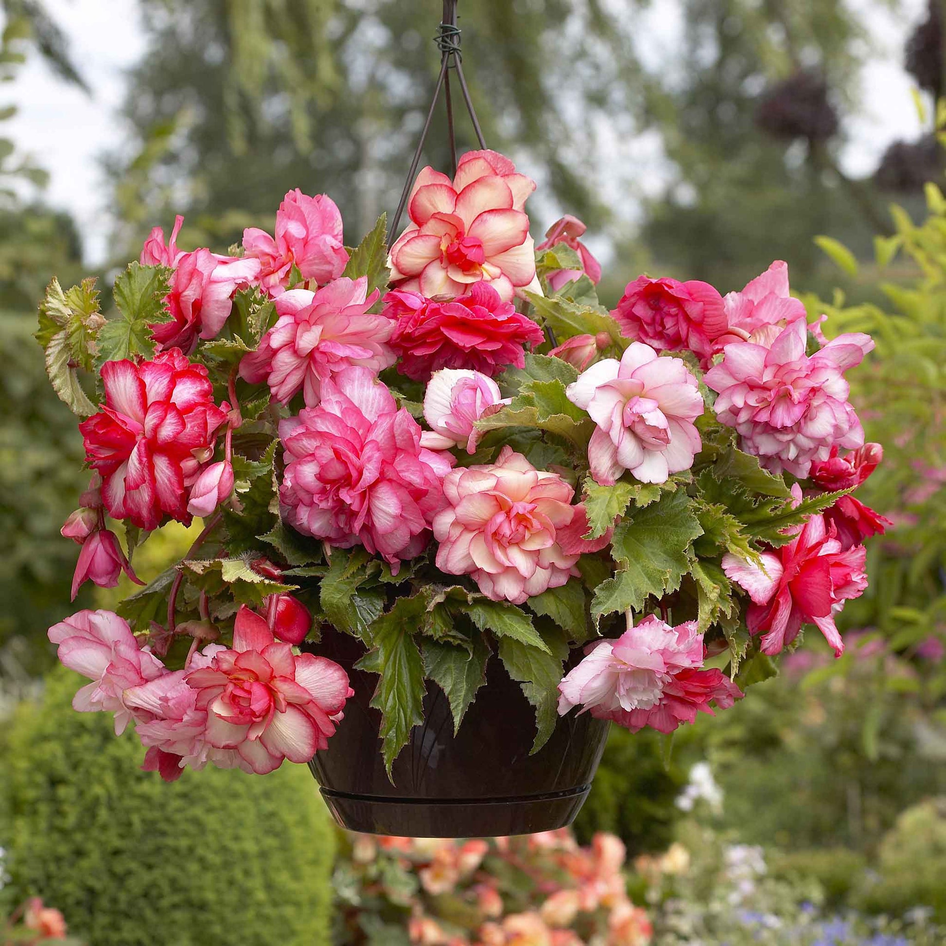
<svg viewBox="0 0 946 946">
<path fill-rule="evenodd" d="M 569 713 L 530 755 L 533 708 L 502 662 L 487 665 L 456 736 L 449 704 L 428 683 L 424 723 L 394 761 L 381 759 L 379 710 L 369 707 L 377 674 L 355 670 L 358 640 L 336 632 L 313 648 L 342 664 L 355 695 L 328 748 L 309 762 L 335 819 L 351 831 L 408 837 L 488 837 L 563 828 L 582 807 L 604 750 L 608 724 Z"/>
</svg>

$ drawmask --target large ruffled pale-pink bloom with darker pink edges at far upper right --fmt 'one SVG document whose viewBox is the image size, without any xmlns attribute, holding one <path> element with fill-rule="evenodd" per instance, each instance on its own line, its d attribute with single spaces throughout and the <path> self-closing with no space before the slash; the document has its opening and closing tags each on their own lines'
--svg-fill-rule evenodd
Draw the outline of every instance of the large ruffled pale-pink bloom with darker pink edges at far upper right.
<svg viewBox="0 0 946 946">
<path fill-rule="evenodd" d="M 808 356 L 807 337 L 805 320 L 796 319 L 771 347 L 733 342 L 704 378 L 719 393 L 716 416 L 738 431 L 745 452 L 772 473 L 801 479 L 813 463 L 829 459 L 832 447 L 864 444 L 844 372 L 874 347 L 870 336 L 852 332 Z"/>
</svg>

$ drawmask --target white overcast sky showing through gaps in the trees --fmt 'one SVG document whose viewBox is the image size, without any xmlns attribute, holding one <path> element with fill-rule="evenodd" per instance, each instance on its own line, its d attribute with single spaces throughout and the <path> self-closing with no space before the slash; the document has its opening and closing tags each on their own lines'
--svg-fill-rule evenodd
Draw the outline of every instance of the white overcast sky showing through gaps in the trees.
<svg viewBox="0 0 946 946">
<path fill-rule="evenodd" d="M 861 77 L 864 113 L 845 128 L 850 142 L 843 166 L 850 174 L 863 175 L 873 170 L 891 141 L 919 134 L 911 80 L 902 69 L 902 49 L 926 4 L 901 0 L 902 13 L 897 16 L 877 9 L 872 0 L 849 3 L 867 17 L 879 51 Z M 12 101 L 19 107 L 19 114 L 7 126 L 10 135 L 50 172 L 45 200 L 78 220 L 86 262 L 95 265 L 107 255 L 111 227 L 109 194 L 98 159 L 125 143 L 125 130 L 115 112 L 123 96 L 124 70 L 144 52 L 145 37 L 137 4 L 131 0 L 46 0 L 46 7 L 69 36 L 74 59 L 93 96 L 63 84 L 33 56 L 6 87 L 9 97 L 0 105 Z M 655 34 L 654 48 L 666 54 L 672 53 L 679 30 L 679 17 L 672 11 L 668 15 L 672 7 L 674 0 L 657 0 L 646 17 L 647 30 Z"/>
</svg>

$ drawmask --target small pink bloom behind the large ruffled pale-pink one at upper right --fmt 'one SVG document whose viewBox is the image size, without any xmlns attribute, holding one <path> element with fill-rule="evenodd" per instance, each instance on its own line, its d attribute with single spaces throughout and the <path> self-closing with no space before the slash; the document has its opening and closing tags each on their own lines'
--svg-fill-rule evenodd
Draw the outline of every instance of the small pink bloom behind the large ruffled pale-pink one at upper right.
<svg viewBox="0 0 946 946">
<path fill-rule="evenodd" d="M 713 339 L 714 354 L 731 342 L 756 342 L 768 347 L 785 325 L 806 317 L 804 304 L 789 294 L 788 264 L 780 259 L 746 283 L 741 292 L 728 292 L 723 305 L 727 329 Z"/>
</svg>

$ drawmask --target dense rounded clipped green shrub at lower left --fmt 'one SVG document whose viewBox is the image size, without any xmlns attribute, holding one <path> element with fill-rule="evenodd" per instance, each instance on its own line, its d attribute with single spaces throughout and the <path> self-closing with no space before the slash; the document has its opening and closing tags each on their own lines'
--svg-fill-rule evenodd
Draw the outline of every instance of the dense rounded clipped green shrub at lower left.
<svg viewBox="0 0 946 946">
<path fill-rule="evenodd" d="M 327 943 L 334 832 L 306 769 L 166 785 L 111 715 L 71 709 L 81 682 L 52 674 L 9 729 L 2 906 L 42 895 L 89 946 Z"/>
</svg>

